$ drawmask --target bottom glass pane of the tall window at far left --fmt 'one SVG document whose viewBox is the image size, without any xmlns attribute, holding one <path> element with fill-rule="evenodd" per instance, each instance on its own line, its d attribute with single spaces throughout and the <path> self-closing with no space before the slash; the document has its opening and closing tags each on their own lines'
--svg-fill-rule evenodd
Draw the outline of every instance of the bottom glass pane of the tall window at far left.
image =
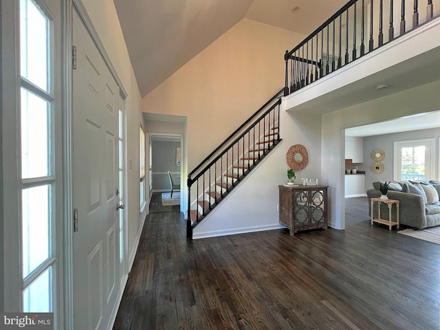
<svg viewBox="0 0 440 330">
<path fill-rule="evenodd" d="M 23 291 L 23 311 L 52 312 L 52 267 L 49 267 Z"/>
</svg>

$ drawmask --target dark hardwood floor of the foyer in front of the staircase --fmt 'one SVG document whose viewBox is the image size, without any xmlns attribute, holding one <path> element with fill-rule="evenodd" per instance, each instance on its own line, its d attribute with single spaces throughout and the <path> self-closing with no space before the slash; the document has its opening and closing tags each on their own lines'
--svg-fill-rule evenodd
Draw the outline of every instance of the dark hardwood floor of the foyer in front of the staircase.
<svg viewBox="0 0 440 330">
<path fill-rule="evenodd" d="M 371 225 L 186 241 L 150 214 L 113 329 L 439 329 L 440 245 Z"/>
</svg>

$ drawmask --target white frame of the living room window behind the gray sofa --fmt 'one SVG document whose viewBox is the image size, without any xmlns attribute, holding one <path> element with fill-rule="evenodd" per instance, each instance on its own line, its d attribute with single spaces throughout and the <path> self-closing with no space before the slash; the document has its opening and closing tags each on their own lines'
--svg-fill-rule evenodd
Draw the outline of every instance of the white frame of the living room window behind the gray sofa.
<svg viewBox="0 0 440 330">
<path fill-rule="evenodd" d="M 395 181 L 401 181 L 401 148 L 408 144 L 426 144 L 429 150 L 426 155 L 428 156 L 425 161 L 426 179 L 433 179 L 437 177 L 435 168 L 435 139 L 420 139 L 420 140 L 404 140 L 394 142 L 394 171 L 393 178 Z M 429 166 L 429 167 L 428 167 Z"/>
</svg>

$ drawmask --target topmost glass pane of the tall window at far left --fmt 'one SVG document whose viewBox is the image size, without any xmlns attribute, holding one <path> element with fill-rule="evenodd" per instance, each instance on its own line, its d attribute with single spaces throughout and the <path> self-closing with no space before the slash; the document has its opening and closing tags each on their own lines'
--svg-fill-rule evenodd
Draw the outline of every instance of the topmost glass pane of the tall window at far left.
<svg viewBox="0 0 440 330">
<path fill-rule="evenodd" d="M 21 0 L 21 76 L 48 91 L 49 21 L 32 0 Z"/>
</svg>

